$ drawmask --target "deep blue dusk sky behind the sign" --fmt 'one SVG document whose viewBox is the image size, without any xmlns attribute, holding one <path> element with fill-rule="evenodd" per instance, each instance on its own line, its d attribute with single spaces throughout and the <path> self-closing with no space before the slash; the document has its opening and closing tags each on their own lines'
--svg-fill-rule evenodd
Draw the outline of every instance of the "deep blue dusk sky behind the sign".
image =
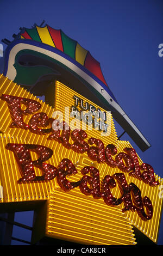
<svg viewBox="0 0 163 256">
<path fill-rule="evenodd" d="M 162 0 L 1 0 L 0 39 L 12 40 L 20 27 L 46 23 L 75 39 L 101 63 L 103 75 L 124 111 L 152 147 L 143 162 L 162 175 Z M 116 125 L 117 133 L 123 130 Z M 159 245 L 163 245 L 163 219 Z"/>
</svg>

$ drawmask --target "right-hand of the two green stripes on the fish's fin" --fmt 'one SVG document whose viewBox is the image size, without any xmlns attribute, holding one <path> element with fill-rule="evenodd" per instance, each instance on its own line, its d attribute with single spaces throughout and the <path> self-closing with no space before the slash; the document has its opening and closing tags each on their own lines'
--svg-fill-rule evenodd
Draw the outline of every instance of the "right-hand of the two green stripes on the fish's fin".
<svg viewBox="0 0 163 256">
<path fill-rule="evenodd" d="M 77 41 L 69 38 L 64 32 L 61 31 L 62 45 L 64 48 L 64 53 L 66 53 L 71 58 L 75 59 L 75 51 Z"/>
</svg>

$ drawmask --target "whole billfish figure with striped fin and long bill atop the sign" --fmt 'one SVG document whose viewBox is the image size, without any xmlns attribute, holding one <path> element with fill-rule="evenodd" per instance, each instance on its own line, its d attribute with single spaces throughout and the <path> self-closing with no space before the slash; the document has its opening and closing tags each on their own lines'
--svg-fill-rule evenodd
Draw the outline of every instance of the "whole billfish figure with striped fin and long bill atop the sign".
<svg viewBox="0 0 163 256">
<path fill-rule="evenodd" d="M 145 151 L 151 145 L 118 104 L 106 84 L 99 62 L 77 41 L 60 29 L 34 26 L 21 28 L 4 54 L 3 74 L 31 93 L 42 96 L 52 81 L 66 86 L 95 102 Z"/>
</svg>

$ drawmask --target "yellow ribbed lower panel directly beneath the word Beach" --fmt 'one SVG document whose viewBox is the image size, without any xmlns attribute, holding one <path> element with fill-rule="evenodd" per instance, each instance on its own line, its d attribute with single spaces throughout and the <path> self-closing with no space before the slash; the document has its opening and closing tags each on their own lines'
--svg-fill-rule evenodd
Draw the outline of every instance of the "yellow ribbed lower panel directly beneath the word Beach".
<svg viewBox="0 0 163 256">
<path fill-rule="evenodd" d="M 48 204 L 46 235 L 87 245 L 135 245 L 133 229 L 120 210 L 78 193 L 56 190 Z"/>
</svg>

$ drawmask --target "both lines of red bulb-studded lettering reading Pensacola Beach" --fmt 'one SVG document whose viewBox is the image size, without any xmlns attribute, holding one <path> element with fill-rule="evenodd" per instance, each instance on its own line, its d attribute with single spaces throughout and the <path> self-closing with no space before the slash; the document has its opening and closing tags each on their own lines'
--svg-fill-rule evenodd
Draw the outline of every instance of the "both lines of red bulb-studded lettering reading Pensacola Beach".
<svg viewBox="0 0 163 256">
<path fill-rule="evenodd" d="M 87 156 L 92 161 L 106 163 L 108 166 L 113 168 L 118 167 L 122 172 L 127 172 L 129 175 L 135 177 L 136 179 L 142 180 L 150 186 L 159 185 L 159 182 L 155 181 L 152 166 L 147 163 L 143 163 L 140 166 L 139 161 L 137 160 L 136 152 L 133 148 L 124 148 L 124 152 L 126 153 L 117 154 L 117 149 L 113 144 L 109 144 L 105 148 L 104 143 L 97 138 L 89 138 L 86 143 L 85 138 L 87 137 L 87 134 L 83 130 L 71 131 L 71 129 L 66 129 L 61 131 L 58 129 L 57 131 L 53 131 L 52 127 L 50 129 L 40 129 L 39 126 L 46 127 L 49 124 L 52 124 L 52 120 L 54 121 L 54 119 L 49 119 L 47 114 L 42 112 L 34 114 L 29 120 L 29 124 L 25 124 L 23 121 L 23 115 L 37 112 L 41 107 L 40 103 L 23 97 L 4 94 L 1 96 L 1 99 L 8 103 L 12 118 L 11 127 L 16 126 L 21 129 L 30 129 L 30 131 L 37 134 L 51 132 L 48 139 L 54 139 L 64 145 L 64 147 L 72 149 L 78 154 L 83 154 L 86 152 Z M 21 109 L 21 103 L 26 105 L 26 110 Z M 73 144 L 69 143 L 70 136 L 74 141 Z M 93 144 L 95 144 L 96 147 L 93 146 Z M 77 182 L 70 182 L 66 179 L 66 176 L 77 173 L 77 169 L 70 160 L 62 159 L 58 167 L 44 163 L 51 158 L 53 154 L 52 149 L 43 147 L 42 145 L 13 143 L 8 143 L 6 148 L 14 152 L 18 166 L 20 167 L 22 178 L 19 180 L 19 182 L 52 180 L 57 176 L 58 184 L 64 191 L 70 191 L 72 188 L 79 186 L 82 193 L 85 195 L 92 194 L 93 198 L 96 199 L 103 197 L 104 202 L 109 206 L 116 206 L 123 202 L 124 208 L 122 209 L 122 212 L 136 210 L 137 214 L 142 218 L 143 221 L 150 220 L 153 216 L 151 200 L 148 197 L 142 198 L 141 191 L 135 184 L 133 184 L 133 182 L 128 185 L 123 173 L 116 173 L 112 176 L 106 175 L 102 184 L 103 189 L 101 190 L 99 171 L 95 167 L 84 167 L 81 170 L 82 174 L 84 175 L 83 178 Z M 39 159 L 32 161 L 30 150 L 34 151 L 39 156 Z M 116 155 L 115 160 L 112 159 L 112 156 L 114 155 Z M 34 167 L 40 168 L 43 175 L 36 176 Z M 143 170 L 142 173 L 141 170 Z M 91 176 L 86 175 L 87 173 L 90 173 Z M 122 194 L 121 198 L 118 199 L 114 198 L 110 191 L 110 188 L 116 186 L 115 179 L 117 180 Z M 90 184 L 91 188 L 87 186 L 87 183 Z M 146 207 L 148 214 L 145 213 L 143 206 Z"/>
</svg>

